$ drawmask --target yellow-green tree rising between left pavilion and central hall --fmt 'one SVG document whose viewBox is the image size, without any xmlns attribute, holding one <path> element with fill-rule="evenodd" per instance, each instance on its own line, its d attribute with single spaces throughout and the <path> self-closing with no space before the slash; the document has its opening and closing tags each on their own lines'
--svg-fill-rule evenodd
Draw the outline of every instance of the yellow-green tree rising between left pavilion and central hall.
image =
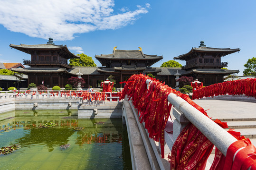
<svg viewBox="0 0 256 170">
<path fill-rule="evenodd" d="M 84 53 L 82 54 L 77 54 L 78 56 L 80 56 L 79 59 L 69 59 L 69 65 L 70 66 L 85 66 L 85 67 L 95 67 L 97 66 L 94 63 L 94 60 L 92 59 L 92 57 L 89 57 L 87 55 L 85 55 Z"/>
</svg>

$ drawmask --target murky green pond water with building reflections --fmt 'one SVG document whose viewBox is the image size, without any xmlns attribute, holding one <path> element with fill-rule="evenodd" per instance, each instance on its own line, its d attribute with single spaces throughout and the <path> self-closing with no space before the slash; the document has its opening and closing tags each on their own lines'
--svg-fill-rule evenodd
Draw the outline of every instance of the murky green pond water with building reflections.
<svg viewBox="0 0 256 170">
<path fill-rule="evenodd" d="M 20 145 L 13 153 L 0 155 L 0 170 L 132 169 L 122 119 L 77 119 L 76 115 L 77 110 L 0 113 L 0 147 Z M 38 128 L 47 122 L 57 126 Z"/>
</svg>

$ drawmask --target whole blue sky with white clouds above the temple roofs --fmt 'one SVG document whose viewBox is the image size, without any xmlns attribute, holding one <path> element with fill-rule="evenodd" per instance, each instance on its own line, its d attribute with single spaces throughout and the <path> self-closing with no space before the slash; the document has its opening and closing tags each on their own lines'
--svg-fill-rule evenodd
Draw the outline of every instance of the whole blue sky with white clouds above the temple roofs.
<svg viewBox="0 0 256 170">
<path fill-rule="evenodd" d="M 204 41 L 208 47 L 240 48 L 221 61 L 242 76 L 244 64 L 256 57 L 255 7 L 256 0 L 0 0 L 0 62 L 30 59 L 10 43 L 44 44 L 52 37 L 94 60 L 114 46 L 142 47 L 145 54 L 163 56 L 153 65 L 160 67 Z"/>
</svg>

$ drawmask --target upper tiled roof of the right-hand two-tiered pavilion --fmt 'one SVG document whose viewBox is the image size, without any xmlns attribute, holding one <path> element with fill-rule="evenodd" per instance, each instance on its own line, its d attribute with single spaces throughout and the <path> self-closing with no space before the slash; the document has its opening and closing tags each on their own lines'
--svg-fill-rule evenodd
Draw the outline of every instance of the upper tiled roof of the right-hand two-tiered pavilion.
<svg viewBox="0 0 256 170">
<path fill-rule="evenodd" d="M 186 60 L 186 57 L 190 56 L 190 54 L 194 52 L 204 52 L 204 53 L 213 53 L 213 52 L 218 52 L 221 54 L 220 57 L 240 51 L 239 48 L 237 49 L 230 49 L 230 48 L 212 48 L 212 47 L 199 47 L 199 48 L 192 48 L 188 53 L 182 54 L 178 57 L 174 57 L 173 59 L 180 59 L 180 60 Z"/>
</svg>

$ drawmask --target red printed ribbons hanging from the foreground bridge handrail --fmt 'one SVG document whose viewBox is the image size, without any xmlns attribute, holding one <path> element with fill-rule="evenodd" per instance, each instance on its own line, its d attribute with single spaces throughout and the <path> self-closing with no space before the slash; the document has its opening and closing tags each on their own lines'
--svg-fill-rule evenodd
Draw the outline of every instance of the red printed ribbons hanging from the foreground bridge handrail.
<svg viewBox="0 0 256 170">
<path fill-rule="evenodd" d="M 149 84 L 148 89 L 146 84 L 147 79 L 153 80 L 152 83 Z M 223 91 L 225 90 L 222 88 L 221 92 Z M 138 110 L 141 123 L 145 122 L 145 128 L 149 132 L 149 137 L 160 142 L 162 157 L 164 156 L 164 128 L 171 110 L 171 104 L 168 103 L 167 100 L 167 96 L 170 93 L 175 93 L 180 96 L 207 116 L 205 110 L 190 100 L 188 95 L 177 92 L 176 90 L 171 89 L 171 87 L 162 84 L 159 80 L 142 74 L 133 75 L 129 78 L 120 97 L 120 100 L 124 99 L 127 94 L 129 100 L 131 98 L 133 99 L 133 105 Z M 223 128 L 228 127 L 227 123 L 221 122 L 218 119 L 214 122 Z M 232 130 L 229 130 L 228 132 L 237 135 L 237 132 Z M 173 144 L 170 157 L 171 170 L 203 170 L 212 148 L 213 144 L 194 125 L 189 124 L 182 130 L 180 136 Z M 255 149 L 254 146 L 250 146 L 250 148 Z M 251 155 L 251 162 L 255 162 L 255 159 L 253 160 L 253 158 L 254 155 Z M 215 160 L 211 170 L 221 170 L 223 162 L 225 163 L 225 159 L 226 157 L 216 149 Z"/>
</svg>

